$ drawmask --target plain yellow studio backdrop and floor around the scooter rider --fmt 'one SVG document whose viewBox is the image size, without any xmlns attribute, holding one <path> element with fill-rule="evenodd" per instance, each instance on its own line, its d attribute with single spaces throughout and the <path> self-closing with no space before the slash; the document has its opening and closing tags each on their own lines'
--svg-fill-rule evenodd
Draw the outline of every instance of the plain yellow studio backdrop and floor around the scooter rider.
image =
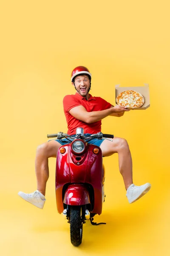
<svg viewBox="0 0 170 256">
<path fill-rule="evenodd" d="M 169 1 L 1 1 L 0 6 L 0 252 L 3 256 L 170 255 Z M 150 108 L 108 117 L 102 131 L 127 139 L 136 185 L 150 192 L 128 204 L 118 156 L 105 158 L 106 201 L 80 247 L 57 213 L 55 159 L 44 209 L 18 191 L 36 189 L 34 157 L 46 134 L 67 131 L 62 108 L 75 93 L 71 71 L 92 73 L 94 96 L 115 104 L 115 84 L 149 83 Z"/>
</svg>

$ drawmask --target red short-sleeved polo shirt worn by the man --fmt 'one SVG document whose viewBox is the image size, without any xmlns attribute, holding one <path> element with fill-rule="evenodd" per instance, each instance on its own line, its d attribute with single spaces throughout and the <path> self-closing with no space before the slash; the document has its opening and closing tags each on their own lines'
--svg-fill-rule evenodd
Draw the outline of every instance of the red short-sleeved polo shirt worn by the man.
<svg viewBox="0 0 170 256">
<path fill-rule="evenodd" d="M 105 101 L 100 97 L 93 97 L 90 94 L 90 98 L 87 100 L 82 97 L 79 93 L 75 95 L 66 95 L 63 99 L 64 113 L 68 125 L 68 134 L 76 134 L 76 128 L 82 127 L 84 133 L 96 134 L 101 131 L 102 121 L 97 121 L 91 124 L 87 124 L 81 120 L 78 120 L 72 116 L 69 111 L 71 108 L 82 105 L 88 112 L 92 111 L 101 111 L 108 108 L 111 108 L 111 103 Z"/>
</svg>

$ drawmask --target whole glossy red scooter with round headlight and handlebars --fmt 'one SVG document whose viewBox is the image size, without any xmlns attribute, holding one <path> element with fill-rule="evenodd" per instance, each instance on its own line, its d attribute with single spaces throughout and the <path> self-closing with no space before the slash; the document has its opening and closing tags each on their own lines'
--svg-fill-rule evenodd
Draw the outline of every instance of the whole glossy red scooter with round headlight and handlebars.
<svg viewBox="0 0 170 256">
<path fill-rule="evenodd" d="M 71 243 L 79 246 L 86 219 L 90 219 L 93 225 L 105 224 L 93 222 L 94 215 L 102 213 L 105 201 L 105 169 L 101 149 L 90 141 L 114 136 L 99 132 L 85 137 L 83 128 L 77 128 L 76 137 L 62 132 L 48 134 L 47 137 L 62 141 L 64 138 L 72 139 L 57 152 L 56 202 L 58 212 L 63 213 L 70 223 Z"/>
</svg>

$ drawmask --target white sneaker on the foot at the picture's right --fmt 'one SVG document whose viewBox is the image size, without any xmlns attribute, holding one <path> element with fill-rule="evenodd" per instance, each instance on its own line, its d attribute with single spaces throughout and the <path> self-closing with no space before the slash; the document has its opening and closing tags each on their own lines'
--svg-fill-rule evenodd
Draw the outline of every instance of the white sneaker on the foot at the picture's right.
<svg viewBox="0 0 170 256">
<path fill-rule="evenodd" d="M 127 199 L 129 201 L 129 204 L 134 203 L 139 198 L 141 198 L 143 195 L 145 195 L 151 188 L 150 183 L 146 183 L 142 186 L 135 186 L 134 184 L 131 184 L 127 189 Z"/>
</svg>

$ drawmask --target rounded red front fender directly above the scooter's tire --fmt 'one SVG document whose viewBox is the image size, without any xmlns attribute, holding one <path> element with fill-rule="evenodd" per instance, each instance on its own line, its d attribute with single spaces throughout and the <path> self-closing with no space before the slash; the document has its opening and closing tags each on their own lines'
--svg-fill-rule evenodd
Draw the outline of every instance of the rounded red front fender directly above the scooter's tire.
<svg viewBox="0 0 170 256">
<path fill-rule="evenodd" d="M 84 205 L 90 204 L 90 195 L 84 184 L 72 184 L 68 186 L 64 195 L 64 204 Z"/>
</svg>

